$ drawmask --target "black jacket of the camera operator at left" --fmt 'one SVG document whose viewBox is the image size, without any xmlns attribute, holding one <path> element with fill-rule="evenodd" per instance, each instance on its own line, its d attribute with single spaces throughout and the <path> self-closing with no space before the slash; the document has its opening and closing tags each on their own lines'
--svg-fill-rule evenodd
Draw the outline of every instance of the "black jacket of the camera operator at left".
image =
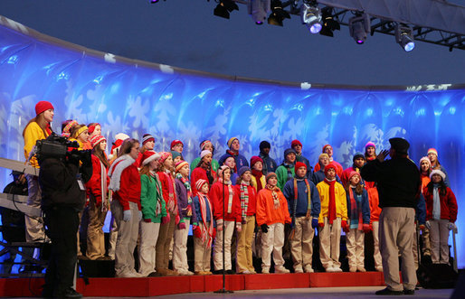
<svg viewBox="0 0 465 299">
<path fill-rule="evenodd" d="M 42 188 L 42 210 L 53 207 L 84 209 L 86 201 L 84 184 L 90 180 L 92 164 L 85 162 L 80 167 L 79 161 L 63 160 L 48 157 L 40 161 L 39 183 Z M 78 183 L 80 176 L 84 190 L 81 190 Z"/>
</svg>

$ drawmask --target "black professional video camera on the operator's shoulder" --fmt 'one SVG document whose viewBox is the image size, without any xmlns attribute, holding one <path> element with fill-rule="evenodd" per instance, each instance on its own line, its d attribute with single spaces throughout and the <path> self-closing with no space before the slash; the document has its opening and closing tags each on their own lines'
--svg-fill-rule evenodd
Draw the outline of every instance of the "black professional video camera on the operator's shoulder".
<svg viewBox="0 0 465 299">
<path fill-rule="evenodd" d="M 70 141 L 66 137 L 52 133 L 46 139 L 37 140 L 35 154 L 39 161 L 50 157 L 66 159 L 71 156 L 77 160 L 86 160 L 90 156 L 90 151 L 78 151 L 78 147 L 77 141 Z"/>
</svg>

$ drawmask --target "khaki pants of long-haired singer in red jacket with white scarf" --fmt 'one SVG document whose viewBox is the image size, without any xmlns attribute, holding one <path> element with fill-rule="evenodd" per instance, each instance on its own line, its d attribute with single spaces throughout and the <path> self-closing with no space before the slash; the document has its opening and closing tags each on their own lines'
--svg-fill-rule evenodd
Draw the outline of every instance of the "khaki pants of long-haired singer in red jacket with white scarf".
<svg viewBox="0 0 465 299">
<path fill-rule="evenodd" d="M 139 212 L 138 204 L 129 201 L 132 217 L 123 220 L 123 207 L 119 201 L 111 202 L 111 211 L 118 223 L 118 239 L 115 248 L 116 276 L 128 276 L 136 273 L 134 269 L 134 249 L 138 243 Z"/>
</svg>

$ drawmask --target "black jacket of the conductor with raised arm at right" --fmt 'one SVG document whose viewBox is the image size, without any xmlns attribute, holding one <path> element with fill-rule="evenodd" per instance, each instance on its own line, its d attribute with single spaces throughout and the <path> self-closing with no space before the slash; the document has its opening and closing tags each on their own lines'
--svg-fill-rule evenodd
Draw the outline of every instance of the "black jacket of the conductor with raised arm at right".
<svg viewBox="0 0 465 299">
<path fill-rule="evenodd" d="M 420 195 L 420 171 L 408 158 L 393 158 L 383 163 L 368 162 L 360 171 L 368 182 L 377 182 L 379 207 L 415 208 Z"/>
</svg>

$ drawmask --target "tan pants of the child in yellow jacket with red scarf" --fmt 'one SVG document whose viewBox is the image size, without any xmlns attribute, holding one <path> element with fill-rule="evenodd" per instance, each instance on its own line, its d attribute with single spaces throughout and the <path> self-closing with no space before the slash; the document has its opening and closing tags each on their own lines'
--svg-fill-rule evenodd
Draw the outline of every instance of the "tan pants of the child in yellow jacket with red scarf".
<svg viewBox="0 0 465 299">
<path fill-rule="evenodd" d="M 337 218 L 333 220 L 332 225 L 329 224 L 327 217 L 323 220 L 325 221 L 325 226 L 318 228 L 319 259 L 325 269 L 340 267 L 341 219 Z"/>
</svg>

